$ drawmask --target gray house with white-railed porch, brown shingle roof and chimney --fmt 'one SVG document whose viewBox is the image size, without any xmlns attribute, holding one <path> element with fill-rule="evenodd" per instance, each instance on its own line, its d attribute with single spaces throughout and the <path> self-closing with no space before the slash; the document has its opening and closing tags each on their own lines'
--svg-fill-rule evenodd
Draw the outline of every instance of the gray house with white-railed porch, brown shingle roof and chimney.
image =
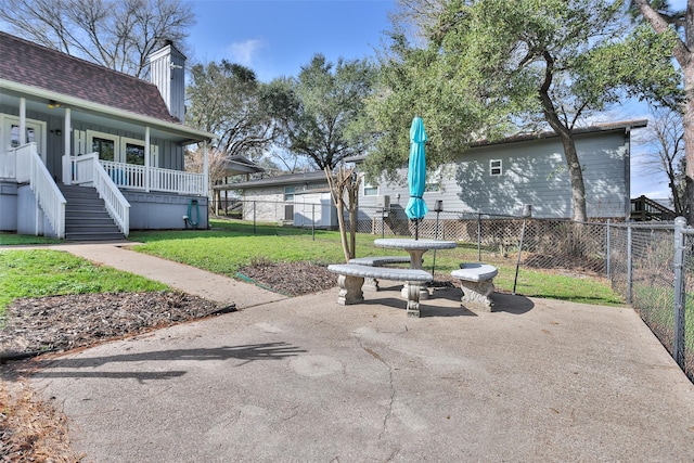
<svg viewBox="0 0 694 463">
<path fill-rule="evenodd" d="M 0 230 L 98 240 L 207 227 L 215 134 L 182 124 L 184 66 L 165 44 L 146 82 L 0 33 Z M 184 147 L 201 142 L 205 171 L 185 172 Z"/>
</svg>

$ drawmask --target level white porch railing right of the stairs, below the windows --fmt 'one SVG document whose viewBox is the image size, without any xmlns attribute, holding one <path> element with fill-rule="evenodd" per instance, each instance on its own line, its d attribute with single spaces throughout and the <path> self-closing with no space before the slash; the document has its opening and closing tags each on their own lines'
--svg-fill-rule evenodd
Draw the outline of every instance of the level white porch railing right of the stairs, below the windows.
<svg viewBox="0 0 694 463">
<path fill-rule="evenodd" d="M 114 183 L 121 188 L 196 196 L 207 195 L 205 178 L 202 173 L 114 163 L 112 160 L 101 160 L 101 165 L 104 166 Z"/>
</svg>

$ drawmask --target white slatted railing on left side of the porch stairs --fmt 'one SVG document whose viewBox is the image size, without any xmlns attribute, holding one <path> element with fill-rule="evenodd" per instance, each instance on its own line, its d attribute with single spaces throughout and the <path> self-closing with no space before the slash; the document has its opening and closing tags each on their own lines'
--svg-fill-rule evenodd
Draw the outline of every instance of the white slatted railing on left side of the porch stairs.
<svg viewBox="0 0 694 463">
<path fill-rule="evenodd" d="M 14 156 L 16 160 L 15 173 L 20 183 L 29 183 L 29 188 L 36 196 L 36 201 L 41 210 L 53 227 L 55 235 L 65 237 L 65 197 L 53 181 L 53 177 L 46 168 L 38 152 L 36 143 L 28 143 L 14 150 L 8 151 L 9 156 Z M 37 215 L 37 227 L 38 227 Z"/>
</svg>

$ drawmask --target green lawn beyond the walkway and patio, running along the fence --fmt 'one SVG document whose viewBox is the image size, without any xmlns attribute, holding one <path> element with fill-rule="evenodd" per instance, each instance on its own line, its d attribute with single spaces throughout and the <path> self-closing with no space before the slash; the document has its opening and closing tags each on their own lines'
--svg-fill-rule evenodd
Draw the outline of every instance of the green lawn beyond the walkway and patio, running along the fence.
<svg viewBox="0 0 694 463">
<path fill-rule="evenodd" d="M 200 267 L 215 273 L 235 275 L 239 268 L 254 260 L 299 261 L 316 263 L 343 262 L 339 233 L 335 231 L 298 230 L 277 226 L 256 226 L 243 221 L 210 220 L 211 230 L 167 232 L 133 232 L 130 239 L 143 244 L 139 252 Z M 380 235 L 360 233 L 357 256 L 393 254 L 373 242 Z M 424 255 L 424 268 L 430 269 L 434 254 Z M 477 261 L 477 248 L 459 246 L 436 254 L 435 273 L 450 273 L 463 261 Z M 494 279 L 498 291 L 511 292 L 515 276 L 515 259 L 493 263 L 499 268 Z M 576 303 L 622 306 L 622 298 L 614 293 L 604 279 L 575 278 L 548 271 L 520 268 L 516 293 L 529 297 L 545 297 Z"/>
</svg>

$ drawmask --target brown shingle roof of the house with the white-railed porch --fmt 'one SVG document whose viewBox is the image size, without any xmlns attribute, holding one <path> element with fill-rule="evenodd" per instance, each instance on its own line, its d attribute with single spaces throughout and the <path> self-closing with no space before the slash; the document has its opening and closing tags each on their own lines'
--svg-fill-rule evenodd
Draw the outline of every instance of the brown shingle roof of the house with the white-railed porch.
<svg viewBox="0 0 694 463">
<path fill-rule="evenodd" d="M 0 79 L 178 123 L 153 83 L 0 31 Z"/>
</svg>

